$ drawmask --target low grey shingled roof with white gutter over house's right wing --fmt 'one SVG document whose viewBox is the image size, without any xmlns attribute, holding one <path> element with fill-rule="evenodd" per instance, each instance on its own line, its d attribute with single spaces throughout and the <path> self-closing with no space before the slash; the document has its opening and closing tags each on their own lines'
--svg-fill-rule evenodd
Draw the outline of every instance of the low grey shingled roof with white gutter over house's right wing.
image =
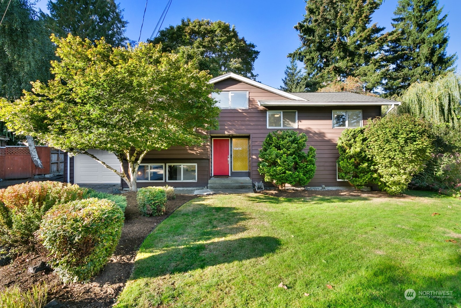
<svg viewBox="0 0 461 308">
<path fill-rule="evenodd" d="M 400 102 L 381 97 L 372 97 L 351 92 L 296 92 L 305 101 L 296 100 L 261 100 L 260 106 L 360 106 L 360 105 L 400 105 Z"/>
</svg>

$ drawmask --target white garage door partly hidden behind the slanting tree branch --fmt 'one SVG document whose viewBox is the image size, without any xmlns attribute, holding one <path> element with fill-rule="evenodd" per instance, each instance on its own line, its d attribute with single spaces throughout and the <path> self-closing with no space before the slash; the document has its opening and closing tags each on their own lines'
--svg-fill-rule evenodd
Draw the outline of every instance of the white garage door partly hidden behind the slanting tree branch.
<svg viewBox="0 0 461 308">
<path fill-rule="evenodd" d="M 118 158 L 109 152 L 89 150 L 104 163 L 120 171 Z M 80 154 L 75 157 L 74 179 L 76 184 L 119 184 L 120 177 L 107 169 L 88 155 Z"/>
</svg>

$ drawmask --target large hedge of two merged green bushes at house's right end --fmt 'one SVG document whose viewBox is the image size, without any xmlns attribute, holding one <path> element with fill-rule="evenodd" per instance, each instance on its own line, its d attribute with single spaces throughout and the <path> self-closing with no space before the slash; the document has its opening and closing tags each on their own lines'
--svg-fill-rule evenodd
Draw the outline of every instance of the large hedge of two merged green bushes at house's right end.
<svg viewBox="0 0 461 308">
<path fill-rule="evenodd" d="M 402 193 L 431 157 L 431 126 L 411 115 L 388 115 L 351 130 L 338 140 L 337 163 L 339 175 L 357 188 L 374 182 L 387 193 Z"/>
</svg>

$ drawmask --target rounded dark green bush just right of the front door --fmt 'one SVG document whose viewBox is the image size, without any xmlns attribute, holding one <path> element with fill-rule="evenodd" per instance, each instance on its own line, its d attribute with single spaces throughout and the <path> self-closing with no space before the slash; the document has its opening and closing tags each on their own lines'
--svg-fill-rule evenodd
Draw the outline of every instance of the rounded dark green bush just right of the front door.
<svg viewBox="0 0 461 308">
<path fill-rule="evenodd" d="M 285 184 L 304 186 L 315 175 L 315 149 L 309 146 L 306 153 L 307 136 L 293 130 L 274 131 L 262 143 L 258 171 L 264 180 L 275 181 L 279 189 Z"/>
</svg>

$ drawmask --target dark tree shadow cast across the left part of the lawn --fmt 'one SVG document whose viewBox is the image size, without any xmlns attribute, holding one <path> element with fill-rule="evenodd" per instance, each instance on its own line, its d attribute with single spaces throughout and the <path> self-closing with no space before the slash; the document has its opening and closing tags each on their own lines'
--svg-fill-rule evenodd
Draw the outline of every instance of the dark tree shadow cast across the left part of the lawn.
<svg viewBox="0 0 461 308">
<path fill-rule="evenodd" d="M 142 245 L 153 252 L 136 261 L 134 278 L 189 272 L 208 266 L 259 258 L 275 252 L 281 242 L 272 236 L 225 239 L 247 230 L 251 219 L 232 206 L 204 205 L 201 199 L 173 213 Z"/>
</svg>

